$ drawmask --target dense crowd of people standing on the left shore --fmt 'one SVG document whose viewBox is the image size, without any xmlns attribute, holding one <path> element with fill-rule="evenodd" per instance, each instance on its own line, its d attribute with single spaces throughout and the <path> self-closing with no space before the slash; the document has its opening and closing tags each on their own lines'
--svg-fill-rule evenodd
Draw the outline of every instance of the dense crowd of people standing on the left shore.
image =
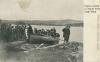
<svg viewBox="0 0 100 62">
<path fill-rule="evenodd" d="M 25 25 L 1 24 L 0 37 L 9 41 L 25 39 Z"/>
</svg>

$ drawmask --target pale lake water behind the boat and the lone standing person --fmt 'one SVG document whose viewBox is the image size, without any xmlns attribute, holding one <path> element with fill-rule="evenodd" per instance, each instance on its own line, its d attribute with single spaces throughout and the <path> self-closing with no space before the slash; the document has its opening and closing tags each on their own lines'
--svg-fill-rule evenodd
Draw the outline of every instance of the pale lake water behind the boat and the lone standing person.
<svg viewBox="0 0 100 62">
<path fill-rule="evenodd" d="M 60 39 L 63 40 L 63 32 L 62 29 L 65 26 L 44 26 L 44 25 L 32 25 L 32 28 L 34 30 L 34 28 L 37 29 L 51 29 L 55 27 L 57 33 L 60 34 Z M 70 38 L 69 41 L 77 41 L 77 42 L 83 42 L 83 27 L 71 27 L 70 28 Z"/>
</svg>

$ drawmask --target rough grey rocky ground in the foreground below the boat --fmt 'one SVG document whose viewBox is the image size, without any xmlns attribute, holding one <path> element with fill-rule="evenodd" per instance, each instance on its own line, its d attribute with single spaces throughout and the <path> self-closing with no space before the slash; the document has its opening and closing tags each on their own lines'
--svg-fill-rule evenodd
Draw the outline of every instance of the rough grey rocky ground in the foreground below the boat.
<svg viewBox="0 0 100 62">
<path fill-rule="evenodd" d="M 47 45 L 23 44 L 24 50 L 5 49 L 0 55 L 1 62 L 83 62 L 83 44 L 70 42 L 54 47 L 43 48 Z"/>
</svg>

